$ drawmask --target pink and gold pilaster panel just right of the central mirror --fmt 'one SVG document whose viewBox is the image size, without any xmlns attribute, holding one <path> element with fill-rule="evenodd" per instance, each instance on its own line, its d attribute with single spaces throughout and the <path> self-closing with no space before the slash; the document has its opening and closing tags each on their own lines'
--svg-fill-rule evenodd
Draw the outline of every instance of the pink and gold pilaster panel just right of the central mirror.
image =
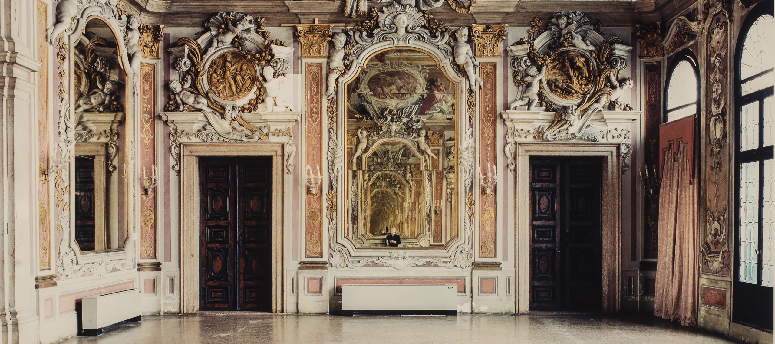
<svg viewBox="0 0 775 344">
<path fill-rule="evenodd" d="M 495 258 L 495 187 L 497 153 L 495 149 L 496 71 L 498 64 L 480 64 L 482 88 L 479 92 L 479 258 Z"/>
</svg>

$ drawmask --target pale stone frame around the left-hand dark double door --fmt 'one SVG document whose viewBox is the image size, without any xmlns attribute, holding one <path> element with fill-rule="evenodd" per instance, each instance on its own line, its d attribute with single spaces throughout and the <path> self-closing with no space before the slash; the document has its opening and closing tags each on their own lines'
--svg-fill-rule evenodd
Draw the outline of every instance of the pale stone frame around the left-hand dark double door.
<svg viewBox="0 0 775 344">
<path fill-rule="evenodd" d="M 284 311 L 283 143 L 181 143 L 181 313 L 199 310 L 199 158 L 272 157 L 272 311 Z"/>
</svg>

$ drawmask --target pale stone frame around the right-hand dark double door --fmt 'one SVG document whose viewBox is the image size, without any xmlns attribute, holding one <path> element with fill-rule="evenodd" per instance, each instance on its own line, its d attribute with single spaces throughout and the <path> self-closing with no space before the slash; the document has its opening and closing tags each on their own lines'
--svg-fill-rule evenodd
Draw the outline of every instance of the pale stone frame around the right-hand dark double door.
<svg viewBox="0 0 775 344">
<path fill-rule="evenodd" d="M 530 310 L 530 157 L 568 156 L 603 157 L 602 170 L 602 236 L 603 236 L 603 311 L 620 308 L 622 264 L 622 159 L 621 146 L 609 143 L 518 143 L 515 153 L 517 166 L 515 187 L 515 275 L 517 313 Z M 522 205 L 522 206 L 520 206 Z"/>
</svg>

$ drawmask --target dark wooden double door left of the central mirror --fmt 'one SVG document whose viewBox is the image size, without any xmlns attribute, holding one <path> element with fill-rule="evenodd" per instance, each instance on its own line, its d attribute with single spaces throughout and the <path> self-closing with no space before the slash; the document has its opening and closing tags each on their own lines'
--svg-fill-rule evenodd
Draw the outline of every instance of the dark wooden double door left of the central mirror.
<svg viewBox="0 0 775 344">
<path fill-rule="evenodd" d="M 271 157 L 200 160 L 203 310 L 272 311 Z"/>
</svg>

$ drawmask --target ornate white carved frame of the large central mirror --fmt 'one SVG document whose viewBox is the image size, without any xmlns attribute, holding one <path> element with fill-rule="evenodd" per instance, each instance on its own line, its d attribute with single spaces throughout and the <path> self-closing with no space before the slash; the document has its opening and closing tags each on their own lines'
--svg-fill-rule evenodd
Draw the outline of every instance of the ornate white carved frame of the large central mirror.
<svg viewBox="0 0 775 344">
<path fill-rule="evenodd" d="M 408 18 L 405 26 L 397 17 Z M 393 3 L 371 13 L 366 22 L 349 30 L 344 71 L 332 68 L 329 75 L 339 73 L 336 92 L 328 101 L 328 140 L 326 154 L 329 179 L 326 194 L 326 218 L 329 230 L 328 260 L 332 267 L 446 267 L 467 269 L 474 263 L 474 121 L 475 103 L 470 84 L 460 72 L 453 58 L 453 46 L 448 43 L 451 30 L 432 19 L 429 13 L 419 12 L 413 6 Z M 346 84 L 360 74 L 374 54 L 384 50 L 409 49 L 428 54 L 436 60 L 449 79 L 456 83 L 456 141 L 458 144 L 455 187 L 458 235 L 443 249 L 384 249 L 358 248 L 345 236 L 349 230 L 348 205 L 344 159 L 346 150 Z M 331 64 L 331 60 L 329 60 Z M 461 187 L 462 186 L 462 187 Z M 341 205 L 337 207 L 337 205 Z"/>
</svg>

